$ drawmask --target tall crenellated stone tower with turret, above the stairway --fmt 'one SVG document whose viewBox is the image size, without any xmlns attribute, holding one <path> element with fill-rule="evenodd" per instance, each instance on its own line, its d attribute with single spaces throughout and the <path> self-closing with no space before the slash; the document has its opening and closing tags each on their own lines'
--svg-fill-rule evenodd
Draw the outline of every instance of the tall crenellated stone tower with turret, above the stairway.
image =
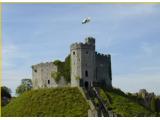
<svg viewBox="0 0 160 120">
<path fill-rule="evenodd" d="M 87 37 L 85 43 L 74 43 L 70 47 L 71 86 L 89 88 L 95 79 L 95 39 Z"/>
</svg>

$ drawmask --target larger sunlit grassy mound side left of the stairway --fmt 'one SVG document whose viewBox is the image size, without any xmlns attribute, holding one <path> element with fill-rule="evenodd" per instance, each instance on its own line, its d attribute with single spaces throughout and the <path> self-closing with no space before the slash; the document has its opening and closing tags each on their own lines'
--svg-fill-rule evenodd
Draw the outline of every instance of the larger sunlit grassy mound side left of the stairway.
<svg viewBox="0 0 160 120">
<path fill-rule="evenodd" d="M 32 90 L 2 108 L 2 116 L 87 116 L 89 105 L 78 88 Z"/>
</svg>

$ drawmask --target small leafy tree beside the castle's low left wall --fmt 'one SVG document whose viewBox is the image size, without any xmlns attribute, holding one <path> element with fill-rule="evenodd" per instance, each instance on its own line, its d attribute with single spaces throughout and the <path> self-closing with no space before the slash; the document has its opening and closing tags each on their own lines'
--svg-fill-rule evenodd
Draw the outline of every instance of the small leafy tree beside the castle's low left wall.
<svg viewBox="0 0 160 120">
<path fill-rule="evenodd" d="M 16 94 L 21 95 L 24 92 L 27 92 L 32 89 L 31 79 L 22 79 L 21 84 L 16 89 Z"/>
</svg>

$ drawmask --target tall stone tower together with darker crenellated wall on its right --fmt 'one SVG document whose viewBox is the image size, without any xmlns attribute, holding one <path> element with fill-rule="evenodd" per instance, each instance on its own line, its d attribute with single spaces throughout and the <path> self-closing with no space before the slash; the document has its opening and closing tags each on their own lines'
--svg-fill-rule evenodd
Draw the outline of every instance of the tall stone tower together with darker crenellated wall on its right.
<svg viewBox="0 0 160 120">
<path fill-rule="evenodd" d="M 95 39 L 88 37 L 85 43 L 70 47 L 71 86 L 91 87 L 96 84 L 112 87 L 111 56 L 95 52 Z"/>
</svg>

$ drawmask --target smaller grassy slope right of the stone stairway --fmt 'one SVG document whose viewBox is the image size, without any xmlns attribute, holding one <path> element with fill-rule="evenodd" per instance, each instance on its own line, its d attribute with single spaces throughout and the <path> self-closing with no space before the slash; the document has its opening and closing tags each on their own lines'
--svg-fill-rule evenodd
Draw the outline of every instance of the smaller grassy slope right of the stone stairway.
<svg viewBox="0 0 160 120">
<path fill-rule="evenodd" d="M 102 92 L 103 94 L 103 92 Z M 112 91 L 106 91 L 103 98 L 106 98 L 106 102 L 110 101 L 110 109 L 120 116 L 155 116 L 154 113 L 147 110 L 137 102 L 129 99 L 127 96 Z M 109 100 L 107 100 L 109 99 Z"/>
</svg>

